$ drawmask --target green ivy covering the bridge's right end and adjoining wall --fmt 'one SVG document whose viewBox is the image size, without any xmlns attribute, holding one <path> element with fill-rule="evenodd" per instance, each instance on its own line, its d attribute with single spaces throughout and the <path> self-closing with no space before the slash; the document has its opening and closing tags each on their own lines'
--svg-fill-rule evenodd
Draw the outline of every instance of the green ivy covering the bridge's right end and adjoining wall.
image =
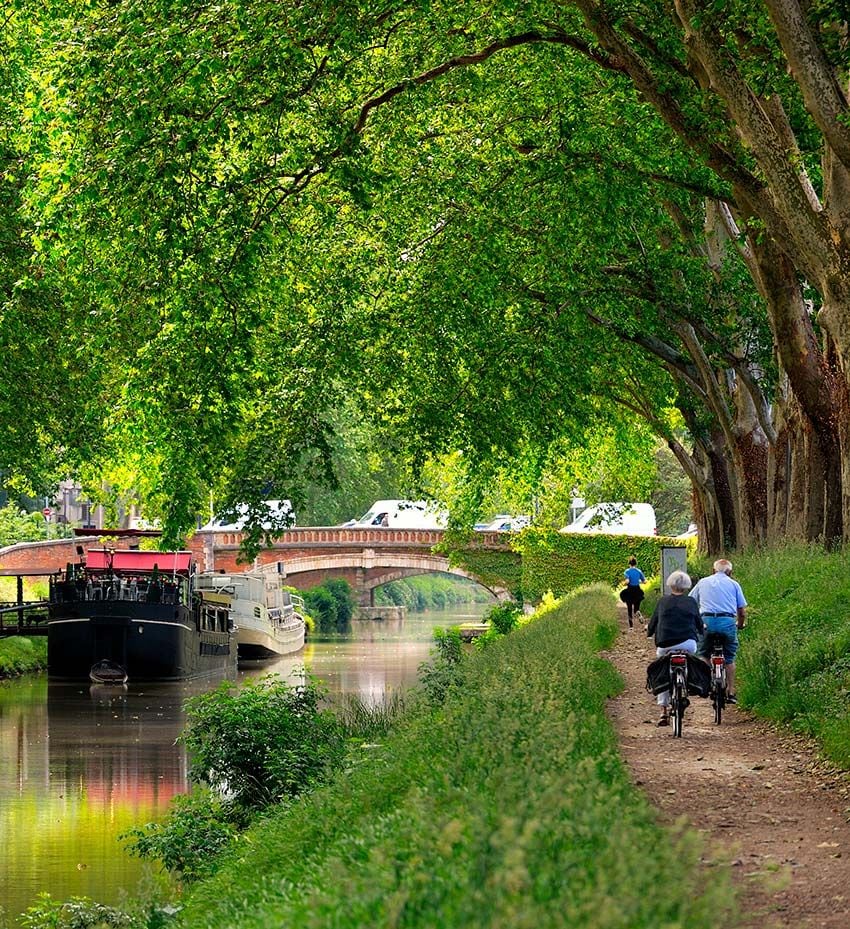
<svg viewBox="0 0 850 929">
<path fill-rule="evenodd" d="M 585 584 L 619 586 L 629 558 L 650 577 L 661 571 L 661 548 L 684 545 L 689 557 L 693 540 L 664 536 L 564 533 L 529 528 L 510 537 L 513 551 L 477 548 L 469 539 L 444 542 L 440 549 L 452 564 L 469 571 L 488 587 L 506 587 L 517 598 L 539 601 L 547 590 L 561 596 Z"/>
</svg>

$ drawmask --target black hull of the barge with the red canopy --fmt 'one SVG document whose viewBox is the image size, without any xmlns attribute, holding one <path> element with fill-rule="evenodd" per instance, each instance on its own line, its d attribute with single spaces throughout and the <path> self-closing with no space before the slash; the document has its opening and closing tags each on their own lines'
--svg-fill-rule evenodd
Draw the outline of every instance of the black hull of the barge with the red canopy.
<svg viewBox="0 0 850 929">
<path fill-rule="evenodd" d="M 78 602 L 51 611 L 47 673 L 88 680 L 99 661 L 121 665 L 131 681 L 180 681 L 236 666 L 229 632 L 198 629 L 180 606 Z"/>
</svg>

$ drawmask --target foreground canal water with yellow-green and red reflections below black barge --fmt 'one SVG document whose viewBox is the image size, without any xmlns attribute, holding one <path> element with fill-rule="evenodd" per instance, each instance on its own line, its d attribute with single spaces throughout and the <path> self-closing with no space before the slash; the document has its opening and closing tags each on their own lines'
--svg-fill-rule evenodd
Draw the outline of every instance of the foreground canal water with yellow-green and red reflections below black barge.
<svg viewBox="0 0 850 929">
<path fill-rule="evenodd" d="M 209 686 L 209 684 L 206 684 Z M 115 901 L 157 871 L 118 836 L 185 790 L 175 745 L 188 687 L 108 689 L 41 677 L 0 688 L 0 902 L 37 893 Z"/>
</svg>

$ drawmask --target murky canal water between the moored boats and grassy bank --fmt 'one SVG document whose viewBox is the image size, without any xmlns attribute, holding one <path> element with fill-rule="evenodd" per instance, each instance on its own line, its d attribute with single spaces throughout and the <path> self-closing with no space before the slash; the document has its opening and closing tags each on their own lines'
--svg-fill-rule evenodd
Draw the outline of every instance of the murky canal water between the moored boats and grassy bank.
<svg viewBox="0 0 850 929">
<path fill-rule="evenodd" d="M 240 668 L 297 683 L 304 669 L 330 695 L 379 703 L 416 680 L 433 630 L 476 619 L 486 605 L 360 620 L 350 633 L 317 637 L 296 655 Z M 218 682 L 104 686 L 48 682 L 44 675 L 0 683 L 0 927 L 41 892 L 120 905 L 166 878 L 132 858 L 119 836 L 160 818 L 187 790 L 186 756 L 175 744 L 187 697 Z"/>
</svg>

